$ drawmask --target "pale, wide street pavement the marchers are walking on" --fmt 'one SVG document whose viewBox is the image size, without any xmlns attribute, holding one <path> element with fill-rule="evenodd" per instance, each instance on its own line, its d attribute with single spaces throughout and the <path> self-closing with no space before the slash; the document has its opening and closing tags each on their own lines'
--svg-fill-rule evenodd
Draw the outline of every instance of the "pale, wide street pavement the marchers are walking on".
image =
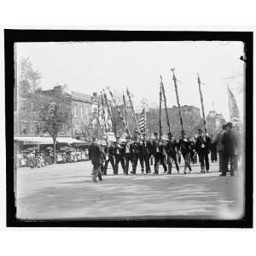
<svg viewBox="0 0 256 256">
<path fill-rule="evenodd" d="M 210 173 L 192 165 L 190 174 L 119 175 L 112 168 L 103 181 L 91 180 L 90 162 L 17 170 L 17 218 L 241 218 L 243 182 L 218 177 L 218 163 Z M 154 166 L 151 166 L 154 170 Z M 175 169 L 175 168 L 174 168 Z M 131 170 L 130 170 L 131 171 Z"/>
</svg>

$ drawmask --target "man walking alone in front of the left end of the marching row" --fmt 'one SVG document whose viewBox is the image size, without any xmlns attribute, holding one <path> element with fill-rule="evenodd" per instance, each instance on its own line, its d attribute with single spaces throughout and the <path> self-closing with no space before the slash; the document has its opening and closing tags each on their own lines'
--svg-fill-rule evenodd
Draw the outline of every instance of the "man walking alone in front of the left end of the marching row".
<svg viewBox="0 0 256 256">
<path fill-rule="evenodd" d="M 91 160 L 92 169 L 92 180 L 96 183 L 96 177 L 102 181 L 101 167 L 103 165 L 104 152 L 99 143 L 97 143 L 96 137 L 93 137 L 92 143 L 89 146 L 89 160 Z"/>
</svg>

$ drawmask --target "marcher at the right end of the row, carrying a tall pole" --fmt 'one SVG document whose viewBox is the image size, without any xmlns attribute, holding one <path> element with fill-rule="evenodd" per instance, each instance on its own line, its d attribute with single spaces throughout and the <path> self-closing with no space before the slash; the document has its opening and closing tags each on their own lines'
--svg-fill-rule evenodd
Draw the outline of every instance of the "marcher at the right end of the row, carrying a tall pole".
<svg viewBox="0 0 256 256">
<path fill-rule="evenodd" d="M 211 148 L 211 139 L 204 135 L 201 129 L 198 129 L 198 137 L 196 139 L 195 148 L 201 164 L 201 172 L 209 172 L 209 156 Z"/>
</svg>

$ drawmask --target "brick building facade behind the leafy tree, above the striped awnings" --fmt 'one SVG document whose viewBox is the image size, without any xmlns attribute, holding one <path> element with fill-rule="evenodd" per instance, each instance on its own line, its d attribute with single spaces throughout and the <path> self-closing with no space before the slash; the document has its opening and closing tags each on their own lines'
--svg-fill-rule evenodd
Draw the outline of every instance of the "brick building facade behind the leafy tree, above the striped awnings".
<svg viewBox="0 0 256 256">
<path fill-rule="evenodd" d="M 41 90 L 39 96 L 44 101 L 54 101 L 56 96 L 62 95 L 62 86 L 55 86 L 52 90 Z M 71 119 L 69 127 L 61 127 L 60 136 L 73 138 L 84 137 L 84 129 L 90 122 L 96 125 L 98 115 L 98 104 L 102 106 L 100 96 L 94 93 L 92 96 L 72 91 L 70 94 L 64 92 L 69 98 Z M 108 102 L 112 107 L 111 102 Z M 14 102 L 14 135 L 43 135 L 41 134 L 38 113 L 33 108 L 32 93 L 16 94 Z M 102 113 L 101 113 L 102 116 Z M 106 119 L 108 111 L 106 109 Z"/>
</svg>

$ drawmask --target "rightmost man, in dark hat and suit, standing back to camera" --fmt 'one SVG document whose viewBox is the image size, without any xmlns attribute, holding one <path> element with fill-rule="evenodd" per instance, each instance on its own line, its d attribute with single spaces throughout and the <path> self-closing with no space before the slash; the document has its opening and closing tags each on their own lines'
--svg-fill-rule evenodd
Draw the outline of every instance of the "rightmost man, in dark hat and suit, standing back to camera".
<svg viewBox="0 0 256 256">
<path fill-rule="evenodd" d="M 236 157 L 239 154 L 239 138 L 236 131 L 232 130 L 233 124 L 226 125 L 226 131 L 222 137 L 223 145 L 223 169 L 220 176 L 226 176 L 230 160 L 230 176 L 234 176 L 236 169 Z"/>
</svg>

